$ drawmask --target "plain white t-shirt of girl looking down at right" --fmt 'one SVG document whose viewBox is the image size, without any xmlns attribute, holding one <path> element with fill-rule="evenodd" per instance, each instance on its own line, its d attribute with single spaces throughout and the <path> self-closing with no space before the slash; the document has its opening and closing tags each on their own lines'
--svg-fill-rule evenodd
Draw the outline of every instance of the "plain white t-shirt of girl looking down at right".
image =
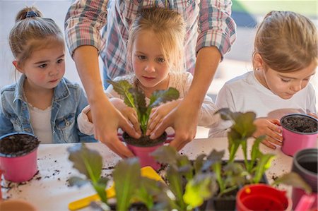
<svg viewBox="0 0 318 211">
<path fill-rule="evenodd" d="M 240 112 L 254 111 L 257 118 L 281 119 L 281 116 L 289 113 L 316 113 L 315 104 L 316 95 L 310 83 L 290 99 L 284 100 L 261 85 L 254 76 L 254 71 L 226 82 L 216 97 L 217 107 Z M 231 124 L 230 121 L 221 121 L 218 125 L 211 127 L 208 136 L 226 136 L 226 129 Z"/>
</svg>

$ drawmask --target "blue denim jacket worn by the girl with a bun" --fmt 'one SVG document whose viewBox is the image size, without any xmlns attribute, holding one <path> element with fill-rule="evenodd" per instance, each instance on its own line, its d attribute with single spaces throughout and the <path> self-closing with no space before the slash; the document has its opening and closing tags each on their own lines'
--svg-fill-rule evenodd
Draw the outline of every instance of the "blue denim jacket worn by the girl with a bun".
<svg viewBox="0 0 318 211">
<path fill-rule="evenodd" d="M 13 132 L 33 133 L 28 102 L 23 98 L 25 75 L 18 83 L 1 89 L 0 136 Z M 96 142 L 78 130 L 77 116 L 88 105 L 83 89 L 66 78 L 54 88 L 51 126 L 53 143 Z"/>
</svg>

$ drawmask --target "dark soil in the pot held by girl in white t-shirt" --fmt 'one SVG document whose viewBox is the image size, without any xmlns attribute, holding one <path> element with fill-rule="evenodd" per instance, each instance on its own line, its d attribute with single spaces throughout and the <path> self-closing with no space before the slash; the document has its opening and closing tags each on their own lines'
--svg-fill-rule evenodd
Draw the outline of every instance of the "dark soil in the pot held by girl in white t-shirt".
<svg viewBox="0 0 318 211">
<path fill-rule="evenodd" d="M 283 118 L 281 123 L 290 131 L 300 133 L 317 132 L 318 121 L 308 116 L 287 116 Z"/>
</svg>

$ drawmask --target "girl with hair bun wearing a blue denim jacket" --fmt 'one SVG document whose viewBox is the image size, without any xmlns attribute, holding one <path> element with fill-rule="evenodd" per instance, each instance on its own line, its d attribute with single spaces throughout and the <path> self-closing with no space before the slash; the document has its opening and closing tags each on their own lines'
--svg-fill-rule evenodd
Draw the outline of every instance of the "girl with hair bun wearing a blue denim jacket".
<svg viewBox="0 0 318 211">
<path fill-rule="evenodd" d="M 1 89 L 0 136 L 28 132 L 41 143 L 96 141 L 78 131 L 77 116 L 88 102 L 79 85 L 63 78 L 64 39 L 54 20 L 25 7 L 9 42 L 13 65 L 23 75 Z"/>
</svg>

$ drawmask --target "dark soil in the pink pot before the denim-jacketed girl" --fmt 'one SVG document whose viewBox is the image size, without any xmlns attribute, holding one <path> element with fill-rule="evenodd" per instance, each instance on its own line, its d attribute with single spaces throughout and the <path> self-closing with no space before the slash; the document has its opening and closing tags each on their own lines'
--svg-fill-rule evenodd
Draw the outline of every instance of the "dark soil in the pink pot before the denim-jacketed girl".
<svg viewBox="0 0 318 211">
<path fill-rule="evenodd" d="M 39 143 L 33 135 L 8 135 L 0 140 L 0 153 L 3 157 L 19 157 L 32 152 Z"/>
</svg>

